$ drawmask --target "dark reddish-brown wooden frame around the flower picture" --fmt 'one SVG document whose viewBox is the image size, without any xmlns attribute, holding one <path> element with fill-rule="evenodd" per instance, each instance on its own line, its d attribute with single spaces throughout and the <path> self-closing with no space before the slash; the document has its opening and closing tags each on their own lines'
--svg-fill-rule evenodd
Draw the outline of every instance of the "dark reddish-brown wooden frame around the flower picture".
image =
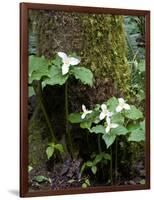
<svg viewBox="0 0 154 200">
<path fill-rule="evenodd" d="M 67 12 L 104 13 L 146 17 L 146 184 L 72 188 L 57 191 L 28 191 L 28 9 L 61 10 Z M 150 11 L 55 4 L 20 3 L 20 196 L 49 196 L 95 192 L 150 189 Z"/>
</svg>

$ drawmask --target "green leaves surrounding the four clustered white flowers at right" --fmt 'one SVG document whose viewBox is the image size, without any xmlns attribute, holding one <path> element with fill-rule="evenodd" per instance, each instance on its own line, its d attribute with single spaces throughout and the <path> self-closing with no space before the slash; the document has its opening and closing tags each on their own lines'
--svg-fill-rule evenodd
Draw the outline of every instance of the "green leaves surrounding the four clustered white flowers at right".
<svg viewBox="0 0 154 200">
<path fill-rule="evenodd" d="M 134 105 L 130 105 L 129 110 L 125 110 L 123 108 L 121 112 L 117 112 L 116 107 L 119 105 L 119 102 L 116 97 L 111 97 L 106 102 L 106 105 L 107 112 L 112 113 L 110 114 L 111 116 L 108 116 L 108 118 L 110 118 L 110 123 L 107 122 L 107 116 L 105 116 L 103 120 L 99 119 L 100 113 L 103 112 L 101 110 L 101 105 L 99 104 L 97 104 L 92 112 L 90 114 L 87 114 L 84 119 L 81 118 L 83 114 L 82 112 L 71 113 L 69 115 L 69 121 L 71 123 L 79 123 L 81 128 L 88 129 L 89 133 L 91 134 L 101 134 L 101 137 L 105 142 L 107 148 L 109 148 L 114 143 L 116 137 L 119 137 L 120 135 L 127 136 L 129 134 L 128 141 L 139 142 L 141 140 L 144 140 L 145 130 L 141 128 L 139 121 L 143 119 L 143 114 L 138 108 L 136 108 Z M 128 120 L 129 126 L 126 127 L 126 122 Z M 95 123 L 97 125 L 94 125 Z M 116 127 L 112 127 L 112 124 L 115 124 Z M 110 127 L 109 132 L 106 132 L 108 126 Z M 143 124 L 142 127 L 144 127 Z M 137 132 L 138 134 L 136 134 Z M 85 166 L 89 166 L 89 163 L 86 163 L 84 167 Z M 95 172 L 95 168 L 93 168 L 93 172 Z"/>
</svg>

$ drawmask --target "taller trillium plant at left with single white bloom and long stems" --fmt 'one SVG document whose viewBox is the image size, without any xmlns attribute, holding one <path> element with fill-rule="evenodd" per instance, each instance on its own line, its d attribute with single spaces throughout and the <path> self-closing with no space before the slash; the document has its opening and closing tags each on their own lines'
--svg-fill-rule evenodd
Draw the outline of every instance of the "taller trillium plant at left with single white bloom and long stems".
<svg viewBox="0 0 154 200">
<path fill-rule="evenodd" d="M 48 117 L 46 108 L 44 106 L 44 99 L 42 90 L 46 85 L 65 85 L 65 128 L 66 128 L 66 148 L 73 157 L 72 137 L 69 129 L 69 109 L 68 109 L 68 84 L 69 78 L 73 76 L 80 80 L 81 83 L 92 86 L 93 74 L 92 72 L 79 65 L 80 58 L 75 54 L 67 55 L 64 52 L 58 52 L 54 59 L 47 60 L 44 56 L 30 56 L 29 57 L 29 94 L 34 93 L 39 99 L 39 103 L 46 119 L 48 128 L 52 136 L 52 142 L 59 145 L 56 134 L 54 133 L 53 123 Z M 52 155 L 53 147 L 48 147 L 48 154 Z M 51 156 L 48 156 L 51 157 Z"/>
</svg>

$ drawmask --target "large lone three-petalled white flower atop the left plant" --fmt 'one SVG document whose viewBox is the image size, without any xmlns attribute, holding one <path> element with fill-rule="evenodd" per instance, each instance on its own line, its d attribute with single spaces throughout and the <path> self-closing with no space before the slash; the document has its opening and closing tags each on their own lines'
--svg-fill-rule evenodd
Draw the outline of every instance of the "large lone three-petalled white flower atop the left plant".
<svg viewBox="0 0 154 200">
<path fill-rule="evenodd" d="M 62 75 L 65 75 L 69 71 L 71 65 L 77 65 L 80 63 L 80 60 L 74 57 L 67 56 L 64 52 L 58 52 L 58 56 L 61 57 L 63 66 L 62 66 Z"/>
</svg>

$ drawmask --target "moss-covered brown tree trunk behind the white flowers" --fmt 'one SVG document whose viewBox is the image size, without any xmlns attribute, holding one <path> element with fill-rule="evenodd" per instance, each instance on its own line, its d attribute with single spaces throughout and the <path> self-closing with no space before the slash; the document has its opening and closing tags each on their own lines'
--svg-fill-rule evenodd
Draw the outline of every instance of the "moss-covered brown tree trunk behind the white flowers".
<svg viewBox="0 0 154 200">
<path fill-rule="evenodd" d="M 72 80 L 69 86 L 70 111 L 81 110 L 82 103 L 92 107 L 113 95 L 128 95 L 130 71 L 126 58 L 123 20 L 122 16 L 114 15 L 30 11 L 30 31 L 36 37 L 38 56 L 52 58 L 58 51 L 67 54 L 75 52 L 81 57 L 81 66 L 90 68 L 94 73 L 93 88 L 76 84 L 76 81 Z M 51 88 L 48 88 L 48 97 L 52 98 Z M 63 99 L 61 95 L 59 100 Z M 48 107 L 50 103 L 47 103 Z M 53 109 L 49 113 L 51 118 L 56 118 L 57 121 L 64 116 L 59 114 L 63 113 L 64 109 L 58 109 L 57 113 L 54 113 Z M 61 125 L 62 130 L 63 126 L 64 124 Z M 34 135 L 33 130 L 29 134 Z"/>
</svg>

